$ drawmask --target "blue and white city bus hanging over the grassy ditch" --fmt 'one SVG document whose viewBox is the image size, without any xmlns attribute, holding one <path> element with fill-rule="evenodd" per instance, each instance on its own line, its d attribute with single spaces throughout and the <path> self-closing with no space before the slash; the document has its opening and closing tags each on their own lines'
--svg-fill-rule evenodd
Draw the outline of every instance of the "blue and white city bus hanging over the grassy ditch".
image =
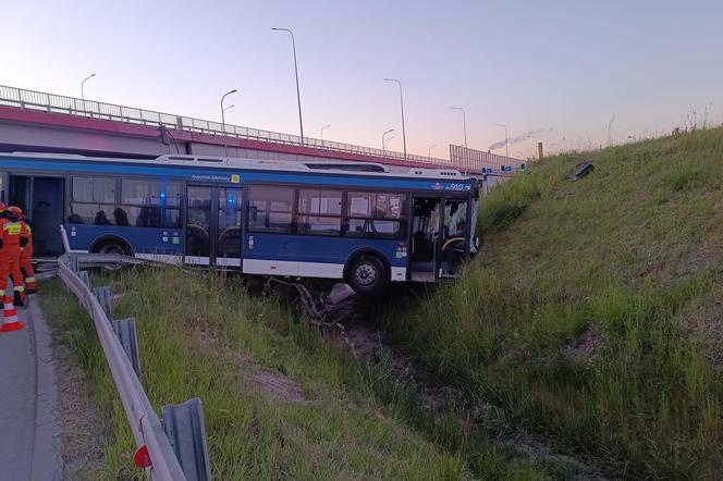
<svg viewBox="0 0 723 481">
<path fill-rule="evenodd" d="M 244 274 L 328 278 L 357 292 L 454 276 L 476 250 L 478 185 L 376 163 L 0 153 L 2 200 L 35 252 L 123 252 Z"/>
</svg>

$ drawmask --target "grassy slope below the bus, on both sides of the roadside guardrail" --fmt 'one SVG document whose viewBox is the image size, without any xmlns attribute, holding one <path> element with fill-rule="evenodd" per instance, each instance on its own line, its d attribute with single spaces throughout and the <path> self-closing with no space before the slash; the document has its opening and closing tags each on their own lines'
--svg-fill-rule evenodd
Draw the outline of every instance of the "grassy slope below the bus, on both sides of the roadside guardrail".
<svg viewBox="0 0 723 481">
<path fill-rule="evenodd" d="M 537 462 L 434 419 L 384 362 L 369 365 L 235 282 L 175 269 L 110 276 L 135 316 L 142 382 L 151 403 L 204 402 L 216 479 L 550 479 Z M 97 280 L 98 281 L 98 280 Z M 60 281 L 41 286 L 59 342 L 87 370 L 109 417 L 105 479 L 140 479 L 133 440 L 94 328 Z"/>
</svg>

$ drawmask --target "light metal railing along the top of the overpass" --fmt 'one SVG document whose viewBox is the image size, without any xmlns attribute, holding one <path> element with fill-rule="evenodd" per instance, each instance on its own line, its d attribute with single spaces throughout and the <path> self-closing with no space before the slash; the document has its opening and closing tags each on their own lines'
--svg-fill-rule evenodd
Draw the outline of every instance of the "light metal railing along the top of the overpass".
<svg viewBox="0 0 723 481">
<path fill-rule="evenodd" d="M 167 128 L 198 132 L 203 134 L 228 135 L 249 140 L 267 141 L 273 144 L 287 144 L 301 147 L 313 147 L 324 150 L 357 153 L 362 156 L 404 161 L 404 153 L 391 150 L 375 149 L 353 144 L 321 140 L 318 138 L 282 134 L 280 132 L 264 131 L 260 128 L 243 127 L 240 125 L 224 125 L 221 122 L 206 121 L 191 116 L 172 113 L 156 112 L 124 107 L 114 103 L 84 100 L 75 97 L 65 97 L 24 88 L 0 85 L 0 106 L 19 107 L 21 109 L 38 110 L 44 112 L 65 113 L 70 115 L 103 119 L 138 125 L 163 125 Z M 437 166 L 457 166 L 449 159 L 415 156 L 407 153 L 407 161 L 428 163 Z"/>
</svg>

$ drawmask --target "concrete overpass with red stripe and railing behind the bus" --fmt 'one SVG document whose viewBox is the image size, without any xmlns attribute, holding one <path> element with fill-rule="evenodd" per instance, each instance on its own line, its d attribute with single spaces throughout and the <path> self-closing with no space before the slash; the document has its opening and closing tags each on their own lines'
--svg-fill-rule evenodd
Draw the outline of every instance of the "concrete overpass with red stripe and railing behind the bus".
<svg viewBox="0 0 723 481">
<path fill-rule="evenodd" d="M 462 150 L 461 150 L 462 149 Z M 152 158 L 163 153 L 379 162 L 391 169 L 518 168 L 524 161 L 459 146 L 450 159 L 407 155 L 183 115 L 0 86 L 0 151 Z M 454 152 L 454 153 L 452 153 Z"/>
</svg>

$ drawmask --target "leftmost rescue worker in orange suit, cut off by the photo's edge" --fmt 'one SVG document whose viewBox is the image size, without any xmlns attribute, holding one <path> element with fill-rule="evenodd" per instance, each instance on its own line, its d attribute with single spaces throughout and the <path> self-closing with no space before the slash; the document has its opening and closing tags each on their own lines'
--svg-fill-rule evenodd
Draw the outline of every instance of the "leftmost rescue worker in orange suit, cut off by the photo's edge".
<svg viewBox="0 0 723 481">
<path fill-rule="evenodd" d="M 20 282 L 23 278 L 20 272 L 20 249 L 27 244 L 27 237 L 22 235 L 23 227 L 17 217 L 0 202 L 0 295 L 5 296 L 8 278 L 13 276 L 13 304 L 24 306 L 25 287 Z"/>
</svg>

